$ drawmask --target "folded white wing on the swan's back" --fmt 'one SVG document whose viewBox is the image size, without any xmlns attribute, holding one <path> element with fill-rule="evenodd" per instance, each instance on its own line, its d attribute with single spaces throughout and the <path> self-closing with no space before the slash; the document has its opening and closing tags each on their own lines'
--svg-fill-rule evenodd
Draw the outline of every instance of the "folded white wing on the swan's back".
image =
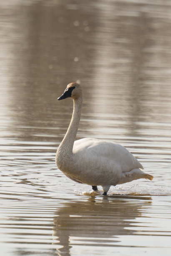
<svg viewBox="0 0 171 256">
<path fill-rule="evenodd" d="M 73 154 L 86 156 L 87 160 L 97 161 L 104 157 L 107 161 L 113 161 L 121 167 L 122 172 L 130 172 L 132 169 L 143 166 L 123 146 L 111 141 L 103 141 L 95 138 L 83 138 L 74 142 Z"/>
</svg>

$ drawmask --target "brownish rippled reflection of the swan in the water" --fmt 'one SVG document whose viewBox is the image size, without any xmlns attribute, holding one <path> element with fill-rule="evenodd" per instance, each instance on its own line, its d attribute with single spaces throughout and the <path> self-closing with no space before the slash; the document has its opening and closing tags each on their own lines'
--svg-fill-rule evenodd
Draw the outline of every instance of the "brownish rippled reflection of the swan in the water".
<svg viewBox="0 0 171 256">
<path fill-rule="evenodd" d="M 150 205 L 151 197 L 90 197 L 87 201 L 67 202 L 55 212 L 53 236 L 58 255 L 70 255 L 72 246 L 117 246 L 118 236 L 133 235 L 126 229 L 141 217 L 142 205 Z M 133 200 L 132 200 L 133 199 Z M 142 200 L 142 204 L 137 202 Z"/>
</svg>

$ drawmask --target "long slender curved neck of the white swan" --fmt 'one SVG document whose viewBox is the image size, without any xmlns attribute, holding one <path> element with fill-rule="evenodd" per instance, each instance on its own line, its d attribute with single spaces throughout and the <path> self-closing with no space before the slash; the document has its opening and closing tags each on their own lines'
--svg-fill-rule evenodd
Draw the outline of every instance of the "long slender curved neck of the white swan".
<svg viewBox="0 0 171 256">
<path fill-rule="evenodd" d="M 70 121 L 68 130 L 60 143 L 57 152 L 62 152 L 63 154 L 72 156 L 73 154 L 73 144 L 78 131 L 78 125 L 80 123 L 81 107 L 82 107 L 82 96 L 73 100 L 73 115 Z"/>
</svg>

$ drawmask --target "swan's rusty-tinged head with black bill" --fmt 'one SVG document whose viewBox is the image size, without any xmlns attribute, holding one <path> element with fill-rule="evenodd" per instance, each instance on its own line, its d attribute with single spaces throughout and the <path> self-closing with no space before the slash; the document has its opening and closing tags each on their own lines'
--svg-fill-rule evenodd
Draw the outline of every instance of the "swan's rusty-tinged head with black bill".
<svg viewBox="0 0 171 256">
<path fill-rule="evenodd" d="M 64 100 L 68 97 L 71 97 L 73 100 L 76 100 L 78 97 L 82 96 L 82 90 L 80 84 L 78 83 L 70 83 L 67 85 L 63 95 L 61 95 L 58 100 Z"/>
</svg>

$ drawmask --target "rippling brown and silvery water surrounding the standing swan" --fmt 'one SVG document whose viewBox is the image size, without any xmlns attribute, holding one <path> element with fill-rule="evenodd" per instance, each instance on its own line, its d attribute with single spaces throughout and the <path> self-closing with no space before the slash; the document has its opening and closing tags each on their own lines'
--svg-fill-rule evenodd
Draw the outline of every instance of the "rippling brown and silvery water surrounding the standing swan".
<svg viewBox="0 0 171 256">
<path fill-rule="evenodd" d="M 0 248 L 16 255 L 170 255 L 171 2 L 1 0 Z M 154 176 L 107 197 L 55 151 L 83 88 L 77 138 L 126 146 Z M 99 187 L 101 189 L 101 187 Z"/>
</svg>

